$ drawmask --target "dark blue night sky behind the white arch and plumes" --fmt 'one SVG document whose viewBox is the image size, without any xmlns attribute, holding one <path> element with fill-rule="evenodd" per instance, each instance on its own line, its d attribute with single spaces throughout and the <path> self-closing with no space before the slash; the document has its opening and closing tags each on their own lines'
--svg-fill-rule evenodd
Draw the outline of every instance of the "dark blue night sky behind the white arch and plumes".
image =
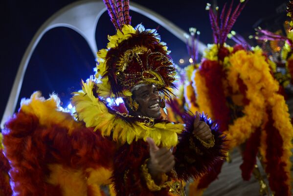
<svg viewBox="0 0 293 196">
<path fill-rule="evenodd" d="M 29 42 L 38 28 L 56 11 L 76 0 L 2 0 L 0 2 L 0 117 L 5 109 L 18 66 Z M 133 0 L 164 16 L 185 31 L 191 26 L 201 31 L 201 41 L 212 43 L 212 32 L 208 12 L 204 10 L 206 2 L 212 0 Z M 132 2 L 132 0 L 131 0 Z M 131 3 L 130 2 L 130 3 Z M 224 0 L 218 0 L 220 9 Z M 230 1 L 227 1 L 228 3 Z M 238 2 L 238 1 L 237 1 Z M 286 0 L 250 0 L 244 8 L 233 30 L 247 36 L 253 34 L 253 25 L 261 18 L 267 18 L 273 24 L 276 7 Z M 235 3 L 236 4 L 236 3 Z M 281 14 L 282 16 L 285 13 Z M 131 12 L 132 25 L 142 22 L 146 28 L 157 28 L 158 24 Z M 271 19 L 268 19 L 271 18 Z M 180 58 L 188 58 L 185 44 L 168 31 L 159 27 L 162 41 L 172 50 L 175 63 Z M 104 13 L 97 25 L 96 37 L 98 49 L 105 48 L 107 34 L 114 33 L 114 27 L 107 13 Z M 50 30 L 35 49 L 24 77 L 20 98 L 41 90 L 47 98 L 56 92 L 64 102 L 69 103 L 70 93 L 80 89 L 81 79 L 93 73 L 95 57 L 86 41 L 75 31 L 58 27 Z M 19 108 L 19 104 L 17 105 Z"/>
</svg>

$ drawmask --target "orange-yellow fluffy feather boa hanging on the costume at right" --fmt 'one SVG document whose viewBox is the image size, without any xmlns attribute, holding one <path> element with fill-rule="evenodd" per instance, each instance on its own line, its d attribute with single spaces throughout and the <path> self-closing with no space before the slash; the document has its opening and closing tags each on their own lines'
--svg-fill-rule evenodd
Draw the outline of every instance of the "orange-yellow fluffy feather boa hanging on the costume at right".
<svg viewBox="0 0 293 196">
<path fill-rule="evenodd" d="M 226 132 L 227 140 L 230 140 L 230 147 L 240 145 L 250 136 L 251 132 L 257 127 L 262 127 L 260 153 L 264 161 L 266 161 L 266 138 L 267 133 L 265 124 L 268 121 L 266 109 L 271 108 L 274 127 L 279 131 L 283 144 L 283 155 L 281 160 L 286 163 L 285 172 L 287 172 L 288 180 L 286 184 L 291 190 L 291 171 L 292 156 L 291 143 L 293 139 L 293 126 L 291 124 L 288 106 L 283 96 L 279 95 L 279 83 L 270 73 L 270 65 L 266 62 L 262 51 L 247 52 L 239 50 L 229 58 L 231 67 L 227 72 L 227 79 L 233 91 L 239 91 L 237 78 L 239 77 L 246 84 L 247 98 L 250 103 L 244 108 L 246 114 L 242 118 L 238 118 L 229 130 Z"/>
</svg>

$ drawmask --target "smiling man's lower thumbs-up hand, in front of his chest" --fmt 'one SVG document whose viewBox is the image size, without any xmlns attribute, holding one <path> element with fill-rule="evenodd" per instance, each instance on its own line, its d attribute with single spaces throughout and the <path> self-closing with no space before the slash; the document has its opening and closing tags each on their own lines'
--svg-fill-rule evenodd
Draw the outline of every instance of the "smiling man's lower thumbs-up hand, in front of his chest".
<svg viewBox="0 0 293 196">
<path fill-rule="evenodd" d="M 157 147 L 152 138 L 147 138 L 150 146 L 150 160 L 148 162 L 148 170 L 153 179 L 158 179 L 162 173 L 172 170 L 175 165 L 175 157 L 166 147 Z M 155 180 L 159 181 L 159 180 Z"/>
</svg>

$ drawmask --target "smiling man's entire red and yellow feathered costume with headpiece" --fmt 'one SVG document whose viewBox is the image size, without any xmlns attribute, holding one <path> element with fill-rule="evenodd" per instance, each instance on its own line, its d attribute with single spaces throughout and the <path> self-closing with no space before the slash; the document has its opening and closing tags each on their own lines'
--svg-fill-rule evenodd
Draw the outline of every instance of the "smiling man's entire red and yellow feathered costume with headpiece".
<svg viewBox="0 0 293 196">
<path fill-rule="evenodd" d="M 175 69 L 156 30 L 130 25 L 128 0 L 104 2 L 117 33 L 97 53 L 95 78 L 74 93 L 75 115 L 60 111 L 57 96 L 34 93 L 6 123 L 3 144 L 16 195 L 100 196 L 101 186 L 110 185 L 117 196 L 182 196 L 181 181 L 202 175 L 225 156 L 224 139 L 204 114 L 201 120 L 213 133 L 208 142 L 192 135 L 193 115 L 186 114 L 183 125 L 109 105 L 107 98 L 123 98 L 135 111 L 132 89 L 141 84 L 156 85 L 163 103 L 172 95 Z M 174 147 L 176 165 L 159 185 L 148 173 L 147 137 L 158 147 Z"/>
</svg>

